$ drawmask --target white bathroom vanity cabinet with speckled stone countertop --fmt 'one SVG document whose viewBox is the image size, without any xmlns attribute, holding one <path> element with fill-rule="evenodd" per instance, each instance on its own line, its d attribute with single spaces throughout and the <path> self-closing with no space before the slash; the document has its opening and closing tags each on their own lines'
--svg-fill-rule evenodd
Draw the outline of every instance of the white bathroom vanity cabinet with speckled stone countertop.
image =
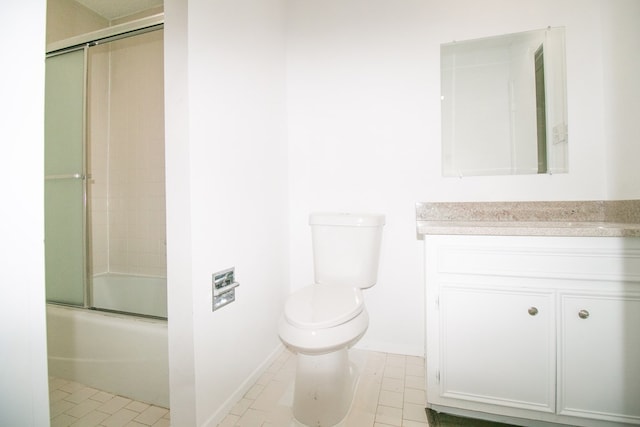
<svg viewBox="0 0 640 427">
<path fill-rule="evenodd" d="M 420 203 L 427 407 L 640 425 L 640 202 Z"/>
</svg>

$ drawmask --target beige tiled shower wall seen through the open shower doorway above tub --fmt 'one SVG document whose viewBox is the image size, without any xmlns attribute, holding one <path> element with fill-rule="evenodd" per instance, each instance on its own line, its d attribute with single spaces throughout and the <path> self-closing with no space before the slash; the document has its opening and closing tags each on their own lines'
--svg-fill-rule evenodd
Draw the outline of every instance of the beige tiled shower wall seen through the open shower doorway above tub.
<svg viewBox="0 0 640 427">
<path fill-rule="evenodd" d="M 163 34 L 90 50 L 92 270 L 165 276 Z"/>
</svg>

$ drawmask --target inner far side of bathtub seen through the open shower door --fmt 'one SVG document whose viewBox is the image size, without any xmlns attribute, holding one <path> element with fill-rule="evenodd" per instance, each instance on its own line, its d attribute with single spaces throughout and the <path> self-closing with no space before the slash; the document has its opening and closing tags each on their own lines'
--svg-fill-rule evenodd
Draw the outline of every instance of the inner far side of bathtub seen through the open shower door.
<svg viewBox="0 0 640 427">
<path fill-rule="evenodd" d="M 126 274 L 93 276 L 96 308 L 167 317 L 167 279 Z"/>
</svg>

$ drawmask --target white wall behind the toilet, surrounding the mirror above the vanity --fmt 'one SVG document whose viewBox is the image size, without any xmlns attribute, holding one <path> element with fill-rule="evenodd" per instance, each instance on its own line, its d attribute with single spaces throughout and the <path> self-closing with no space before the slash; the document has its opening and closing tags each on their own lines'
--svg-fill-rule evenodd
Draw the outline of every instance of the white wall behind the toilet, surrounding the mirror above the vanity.
<svg viewBox="0 0 640 427">
<path fill-rule="evenodd" d="M 637 2 L 631 3 L 290 0 L 292 288 L 312 279 L 310 211 L 383 212 L 380 276 L 365 295 L 371 322 L 359 345 L 422 353 L 422 248 L 414 233 L 415 202 L 637 198 L 638 145 L 632 146 L 631 138 L 638 125 L 631 117 L 638 111 L 638 83 L 629 80 L 637 74 L 638 55 L 629 52 L 637 51 L 632 23 L 637 26 L 638 20 L 614 23 L 630 11 L 637 16 Z M 610 15 L 605 25 L 603 8 Z M 614 32 L 621 23 L 624 36 L 604 37 L 609 44 L 620 38 L 624 43 L 603 70 L 609 48 L 603 29 Z M 569 173 L 441 177 L 440 44 L 547 26 L 566 28 Z M 632 74 L 625 72 L 624 82 L 603 84 L 605 76 L 629 64 Z M 628 98 L 621 93 L 627 85 L 634 90 Z M 624 120 L 605 120 L 605 101 L 615 104 Z M 610 138 L 618 125 L 620 138 Z"/>
</svg>

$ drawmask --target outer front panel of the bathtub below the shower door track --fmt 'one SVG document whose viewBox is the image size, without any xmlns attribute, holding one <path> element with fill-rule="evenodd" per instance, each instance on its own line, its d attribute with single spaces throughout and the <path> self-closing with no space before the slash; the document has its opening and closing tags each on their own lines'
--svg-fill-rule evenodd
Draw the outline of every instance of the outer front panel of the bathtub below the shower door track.
<svg viewBox="0 0 640 427">
<path fill-rule="evenodd" d="M 166 320 L 47 304 L 47 343 L 49 375 L 169 407 Z"/>
</svg>

